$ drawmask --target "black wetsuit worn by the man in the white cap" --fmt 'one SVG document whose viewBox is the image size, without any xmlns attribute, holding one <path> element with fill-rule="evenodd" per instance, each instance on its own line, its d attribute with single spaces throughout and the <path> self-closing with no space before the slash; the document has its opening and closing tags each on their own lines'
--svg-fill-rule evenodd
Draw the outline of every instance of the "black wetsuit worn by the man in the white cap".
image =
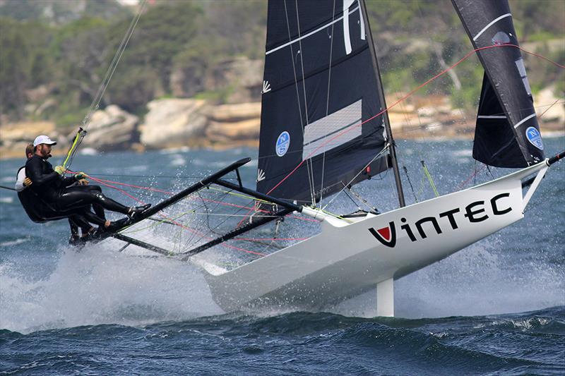
<svg viewBox="0 0 565 376">
<path fill-rule="evenodd" d="M 76 178 L 61 177 L 53 170 L 53 166 L 38 155 L 34 155 L 25 164 L 25 176 L 33 184 L 30 189 L 55 212 L 64 213 L 81 207 L 93 205 L 103 207 L 112 212 L 129 213 L 129 207 L 107 198 L 97 186 L 73 186 Z M 90 220 L 90 219 L 89 219 Z"/>
</svg>

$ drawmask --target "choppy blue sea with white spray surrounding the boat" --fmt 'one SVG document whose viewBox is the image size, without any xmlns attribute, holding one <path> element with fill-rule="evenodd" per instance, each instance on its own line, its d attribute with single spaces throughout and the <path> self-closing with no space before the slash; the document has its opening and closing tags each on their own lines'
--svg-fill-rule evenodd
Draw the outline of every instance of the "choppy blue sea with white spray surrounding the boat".
<svg viewBox="0 0 565 376">
<path fill-rule="evenodd" d="M 441 193 L 475 167 L 468 141 L 399 143 L 420 200 L 433 195 L 420 159 Z M 545 143 L 547 154 L 565 149 L 565 138 Z M 255 154 L 107 153 L 79 156 L 73 168 L 178 190 L 186 176 Z M 0 162 L 0 185 L 11 186 L 22 163 Z M 243 169 L 248 186 L 255 169 Z M 393 193 L 381 189 L 390 175 L 356 189 L 391 208 Z M 487 178 L 484 170 L 477 183 Z M 0 190 L 0 375 L 563 375 L 564 183 L 561 162 L 521 222 L 397 281 L 396 313 L 407 318 L 375 318 L 374 292 L 330 313 L 225 314 L 196 267 L 104 244 L 77 252 L 66 245 L 66 222 L 33 224 L 16 195 Z M 414 200 L 406 180 L 405 190 Z"/>
</svg>

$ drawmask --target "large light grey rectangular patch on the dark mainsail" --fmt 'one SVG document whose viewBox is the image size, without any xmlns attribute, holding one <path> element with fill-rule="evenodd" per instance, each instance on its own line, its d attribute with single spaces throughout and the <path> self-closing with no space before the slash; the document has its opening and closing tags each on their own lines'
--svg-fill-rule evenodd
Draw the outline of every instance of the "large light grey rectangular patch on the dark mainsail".
<svg viewBox="0 0 565 376">
<path fill-rule="evenodd" d="M 315 157 L 361 135 L 362 99 L 304 128 L 302 160 Z M 351 128 L 355 127 L 355 128 Z"/>
</svg>

